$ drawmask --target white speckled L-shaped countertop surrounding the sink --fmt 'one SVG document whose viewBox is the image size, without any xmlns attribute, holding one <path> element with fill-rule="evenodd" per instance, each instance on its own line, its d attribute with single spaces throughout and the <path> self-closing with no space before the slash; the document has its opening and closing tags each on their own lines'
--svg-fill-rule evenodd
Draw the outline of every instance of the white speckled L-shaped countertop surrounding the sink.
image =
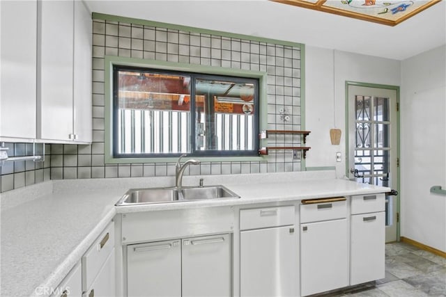
<svg viewBox="0 0 446 297">
<path fill-rule="evenodd" d="M 46 296 L 36 288 L 55 288 L 116 213 L 390 191 L 333 177 L 331 172 L 207 176 L 205 185 L 224 184 L 241 198 L 128 207 L 114 206 L 128 188 L 171 186 L 172 177 L 72 179 L 2 193 L 1 296 Z M 185 177 L 184 184 L 198 184 L 199 178 Z"/>
</svg>

